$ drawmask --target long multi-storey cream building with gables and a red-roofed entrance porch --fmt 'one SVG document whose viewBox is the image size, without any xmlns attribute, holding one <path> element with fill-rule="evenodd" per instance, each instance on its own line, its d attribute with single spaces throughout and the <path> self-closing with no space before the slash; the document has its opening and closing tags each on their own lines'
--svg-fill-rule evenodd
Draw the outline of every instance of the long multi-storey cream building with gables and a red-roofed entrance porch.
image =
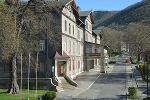
<svg viewBox="0 0 150 100">
<path fill-rule="evenodd" d="M 55 3 L 61 8 L 59 13 L 51 12 L 55 20 L 54 26 L 47 26 L 52 29 L 51 34 L 54 36 L 51 41 L 54 40 L 54 42 L 49 41 L 48 31 L 43 33 L 39 28 L 39 33 L 45 34 L 46 38 L 39 40 L 38 78 L 56 77 L 60 80 L 60 77 L 68 76 L 70 79 L 75 79 L 80 73 L 89 71 L 95 66 L 99 66 L 101 71 L 106 70 L 107 49 L 100 44 L 101 31 L 92 30 L 92 24 L 94 24 L 92 11 L 80 11 L 75 0 L 35 1 L 31 4 L 31 8 L 34 8 L 38 14 L 42 11 L 39 5 L 48 7 Z M 48 24 L 49 21 L 47 21 Z M 9 77 L 9 73 L 5 74 L 0 77 Z M 31 71 L 30 77 L 35 78 L 35 74 L 35 71 Z"/>
</svg>

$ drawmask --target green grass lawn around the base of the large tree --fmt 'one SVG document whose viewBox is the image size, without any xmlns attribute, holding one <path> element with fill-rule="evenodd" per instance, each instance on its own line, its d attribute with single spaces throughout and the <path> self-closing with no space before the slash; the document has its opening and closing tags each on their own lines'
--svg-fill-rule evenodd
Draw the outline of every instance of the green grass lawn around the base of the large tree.
<svg viewBox="0 0 150 100">
<path fill-rule="evenodd" d="M 37 95 L 35 95 L 35 90 L 29 91 L 30 100 L 37 100 L 38 96 L 42 96 L 48 90 L 38 90 Z M 22 90 L 22 93 L 13 95 L 7 93 L 6 89 L 0 89 L 0 100 L 28 100 L 28 90 Z"/>
</svg>

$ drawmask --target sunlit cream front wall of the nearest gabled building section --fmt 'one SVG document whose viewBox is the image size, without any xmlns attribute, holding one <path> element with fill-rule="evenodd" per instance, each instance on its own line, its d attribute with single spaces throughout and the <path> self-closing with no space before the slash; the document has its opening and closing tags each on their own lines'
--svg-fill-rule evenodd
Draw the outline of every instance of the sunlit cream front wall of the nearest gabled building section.
<svg viewBox="0 0 150 100">
<path fill-rule="evenodd" d="M 83 29 L 76 25 L 76 19 L 70 6 L 66 6 L 62 12 L 64 13 L 62 14 L 62 53 L 65 51 L 70 56 L 70 60 L 74 60 L 74 70 L 71 68 L 70 72 L 71 77 L 74 78 L 76 74 L 83 71 L 78 67 L 78 61 L 80 61 L 80 68 L 83 63 L 83 60 L 81 60 L 83 59 Z M 65 21 L 67 30 L 65 30 Z"/>
</svg>

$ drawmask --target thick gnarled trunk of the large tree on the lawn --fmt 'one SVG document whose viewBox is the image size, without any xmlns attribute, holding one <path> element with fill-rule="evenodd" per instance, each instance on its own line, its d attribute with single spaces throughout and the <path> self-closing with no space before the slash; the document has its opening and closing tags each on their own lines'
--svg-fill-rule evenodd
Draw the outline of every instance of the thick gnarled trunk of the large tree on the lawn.
<svg viewBox="0 0 150 100">
<path fill-rule="evenodd" d="M 10 72 L 10 86 L 8 92 L 10 94 L 18 94 L 19 86 L 17 84 L 17 67 L 16 67 L 16 55 L 12 59 L 12 70 Z"/>
</svg>

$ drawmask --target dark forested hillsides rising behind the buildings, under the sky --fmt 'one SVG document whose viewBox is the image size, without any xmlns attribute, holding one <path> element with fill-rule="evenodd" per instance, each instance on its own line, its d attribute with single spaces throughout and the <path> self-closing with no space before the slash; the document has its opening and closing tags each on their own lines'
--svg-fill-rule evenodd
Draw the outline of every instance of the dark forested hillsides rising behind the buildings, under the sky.
<svg viewBox="0 0 150 100">
<path fill-rule="evenodd" d="M 112 12 L 108 11 L 107 13 Z M 106 16 L 108 15 L 107 13 L 104 13 L 103 11 L 93 12 L 95 20 L 93 29 L 100 26 L 109 26 L 114 23 L 117 25 L 127 25 L 131 22 L 150 23 L 150 0 L 138 2 L 124 10 L 113 13 L 112 16 Z"/>
</svg>

